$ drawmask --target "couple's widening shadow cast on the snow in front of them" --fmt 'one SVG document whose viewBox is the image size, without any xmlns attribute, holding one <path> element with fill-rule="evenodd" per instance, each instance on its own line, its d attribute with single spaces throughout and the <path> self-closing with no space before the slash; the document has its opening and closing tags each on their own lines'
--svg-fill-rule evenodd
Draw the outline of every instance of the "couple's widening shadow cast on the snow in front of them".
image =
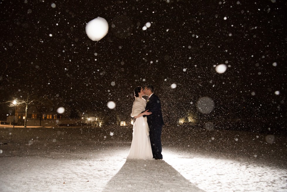
<svg viewBox="0 0 287 192">
<path fill-rule="evenodd" d="M 200 191 L 162 160 L 127 159 L 103 191 Z"/>
</svg>

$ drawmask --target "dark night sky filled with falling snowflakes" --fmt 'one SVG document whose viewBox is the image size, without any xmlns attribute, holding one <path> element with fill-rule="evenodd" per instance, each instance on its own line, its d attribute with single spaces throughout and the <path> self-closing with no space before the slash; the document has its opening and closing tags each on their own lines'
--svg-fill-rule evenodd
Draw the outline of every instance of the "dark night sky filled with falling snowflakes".
<svg viewBox="0 0 287 192">
<path fill-rule="evenodd" d="M 190 2 L 1 1 L 1 101 L 35 91 L 79 113 L 114 101 L 129 116 L 134 87 L 153 84 L 165 119 L 199 113 L 201 97 L 210 116 L 286 118 L 286 1 Z M 98 16 L 109 31 L 92 41 Z"/>
</svg>

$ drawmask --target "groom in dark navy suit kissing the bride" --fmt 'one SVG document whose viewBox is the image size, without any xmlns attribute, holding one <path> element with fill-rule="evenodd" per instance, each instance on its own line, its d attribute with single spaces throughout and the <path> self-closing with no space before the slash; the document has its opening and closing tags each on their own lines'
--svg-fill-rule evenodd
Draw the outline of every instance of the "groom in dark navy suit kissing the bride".
<svg viewBox="0 0 287 192">
<path fill-rule="evenodd" d="M 148 85 L 144 88 L 145 95 L 148 96 L 146 101 L 146 110 L 151 112 L 151 115 L 146 115 L 149 127 L 149 138 L 151 140 L 151 150 L 153 152 L 153 158 L 163 159 L 161 154 L 161 131 L 164 125 L 163 114 L 161 113 L 161 104 L 158 96 L 153 94 L 153 86 Z M 144 115 L 145 116 L 145 115 Z"/>
</svg>

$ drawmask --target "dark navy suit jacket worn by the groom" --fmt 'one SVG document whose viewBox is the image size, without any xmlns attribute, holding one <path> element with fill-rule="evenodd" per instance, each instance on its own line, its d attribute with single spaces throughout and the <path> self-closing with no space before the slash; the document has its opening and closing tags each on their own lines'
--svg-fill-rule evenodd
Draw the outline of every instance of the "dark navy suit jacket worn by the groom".
<svg viewBox="0 0 287 192">
<path fill-rule="evenodd" d="M 160 99 L 155 94 L 146 103 L 146 110 L 151 112 L 151 115 L 146 115 L 148 126 L 157 127 L 164 125 L 163 114 L 161 112 Z"/>
</svg>

